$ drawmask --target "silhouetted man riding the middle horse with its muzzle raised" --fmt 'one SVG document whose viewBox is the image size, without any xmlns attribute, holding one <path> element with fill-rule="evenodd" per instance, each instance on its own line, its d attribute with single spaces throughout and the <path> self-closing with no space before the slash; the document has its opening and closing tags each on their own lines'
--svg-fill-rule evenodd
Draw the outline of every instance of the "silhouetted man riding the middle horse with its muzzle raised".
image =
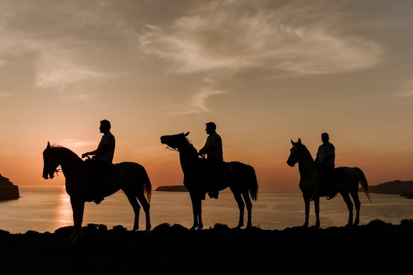
<svg viewBox="0 0 413 275">
<path fill-rule="evenodd" d="M 218 169 L 224 162 L 222 151 L 222 139 L 216 133 L 216 124 L 214 122 L 208 122 L 205 124 L 205 131 L 208 134 L 204 147 L 199 150 L 198 155 L 207 155 L 207 165 L 209 170 L 213 171 L 213 175 L 218 175 Z M 214 184 L 215 183 L 215 184 Z M 210 198 L 218 199 L 219 190 L 216 186 L 216 181 L 212 181 L 213 191 L 208 193 Z"/>
</svg>

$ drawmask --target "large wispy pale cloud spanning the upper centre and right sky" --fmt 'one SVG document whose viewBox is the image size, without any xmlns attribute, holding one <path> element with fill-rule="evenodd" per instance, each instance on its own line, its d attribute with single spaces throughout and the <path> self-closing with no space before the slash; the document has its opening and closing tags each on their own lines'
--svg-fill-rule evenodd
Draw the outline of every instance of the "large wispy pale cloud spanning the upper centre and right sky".
<svg viewBox="0 0 413 275">
<path fill-rule="evenodd" d="M 170 26 L 148 25 L 139 37 L 140 48 L 173 62 L 177 73 L 260 67 L 321 74 L 375 67 L 383 46 L 348 29 L 342 13 L 330 5 L 208 1 Z"/>
</svg>

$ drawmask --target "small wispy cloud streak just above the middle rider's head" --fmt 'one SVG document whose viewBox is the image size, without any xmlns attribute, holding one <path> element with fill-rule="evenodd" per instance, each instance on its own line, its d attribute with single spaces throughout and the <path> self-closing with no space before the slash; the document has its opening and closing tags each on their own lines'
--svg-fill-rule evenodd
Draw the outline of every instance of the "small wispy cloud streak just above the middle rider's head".
<svg viewBox="0 0 413 275">
<path fill-rule="evenodd" d="M 169 104 L 165 110 L 170 115 L 184 115 L 184 114 L 199 114 L 201 112 L 209 112 L 207 101 L 210 97 L 218 94 L 225 94 L 227 92 L 204 88 L 200 92 L 190 96 L 188 100 L 182 104 Z"/>
</svg>

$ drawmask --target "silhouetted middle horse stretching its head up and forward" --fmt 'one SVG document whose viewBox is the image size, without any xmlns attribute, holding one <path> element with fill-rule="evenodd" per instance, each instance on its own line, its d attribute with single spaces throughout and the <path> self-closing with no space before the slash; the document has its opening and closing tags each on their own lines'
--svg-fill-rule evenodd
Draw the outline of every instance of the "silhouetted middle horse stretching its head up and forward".
<svg viewBox="0 0 413 275">
<path fill-rule="evenodd" d="M 176 134 L 161 136 L 160 142 L 179 152 L 179 159 L 184 174 L 183 184 L 189 191 L 194 213 L 194 224 L 191 230 L 202 229 L 202 206 L 201 201 L 205 200 L 205 194 L 211 191 L 211 182 L 215 181 L 219 190 L 230 187 L 239 208 L 239 221 L 236 228 L 244 226 L 244 206 L 247 206 L 248 222 L 246 228 L 252 226 L 251 211 L 253 199 L 256 201 L 258 195 L 258 183 L 254 167 L 240 162 L 225 163 L 225 170 L 222 174 L 210 171 L 205 159 L 199 158 L 197 149 L 186 138 L 186 134 Z M 214 174 L 214 176 L 211 176 Z M 244 201 L 242 200 L 244 198 Z"/>
</svg>

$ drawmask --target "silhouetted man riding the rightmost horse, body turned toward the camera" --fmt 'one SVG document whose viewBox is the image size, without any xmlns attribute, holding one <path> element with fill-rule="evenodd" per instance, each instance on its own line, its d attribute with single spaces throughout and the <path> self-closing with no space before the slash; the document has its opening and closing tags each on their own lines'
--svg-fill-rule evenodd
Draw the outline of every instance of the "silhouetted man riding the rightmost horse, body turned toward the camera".
<svg viewBox="0 0 413 275">
<path fill-rule="evenodd" d="M 321 134 L 322 145 L 318 147 L 317 156 L 315 157 L 315 163 L 319 167 L 319 178 L 322 189 L 327 192 L 327 200 L 331 200 L 337 195 L 334 190 L 334 161 L 335 161 L 335 148 L 334 145 L 329 142 L 330 137 L 328 133 Z"/>
</svg>

